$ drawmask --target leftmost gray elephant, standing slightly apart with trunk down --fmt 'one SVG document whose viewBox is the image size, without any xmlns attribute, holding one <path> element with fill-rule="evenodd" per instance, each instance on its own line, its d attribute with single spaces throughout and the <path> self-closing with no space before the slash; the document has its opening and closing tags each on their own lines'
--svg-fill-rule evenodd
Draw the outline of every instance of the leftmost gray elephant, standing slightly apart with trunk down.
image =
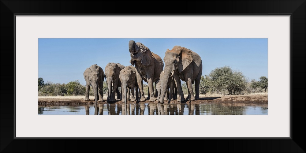
<svg viewBox="0 0 306 153">
<path fill-rule="evenodd" d="M 83 75 L 86 80 L 85 100 L 89 100 L 89 88 L 91 86 L 95 95 L 95 104 L 98 100 L 103 102 L 103 81 L 105 78 L 103 69 L 96 64 L 91 65 L 84 71 Z"/>
</svg>

